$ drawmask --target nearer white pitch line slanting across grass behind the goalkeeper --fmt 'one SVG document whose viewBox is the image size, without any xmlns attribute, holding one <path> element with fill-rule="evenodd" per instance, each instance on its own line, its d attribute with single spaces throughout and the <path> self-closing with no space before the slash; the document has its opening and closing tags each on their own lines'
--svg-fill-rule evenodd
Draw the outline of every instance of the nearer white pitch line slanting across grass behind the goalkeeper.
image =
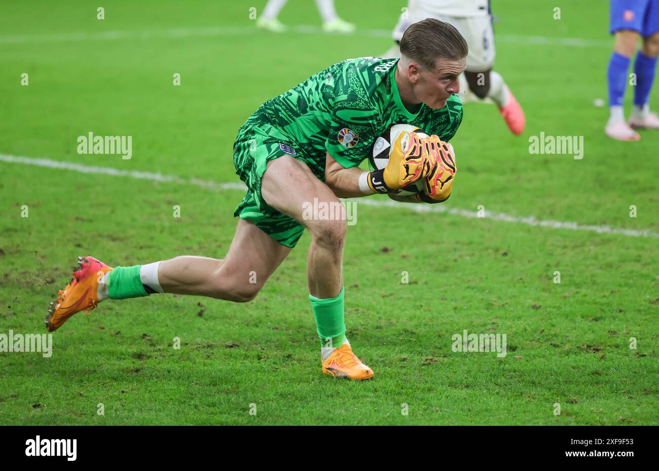
<svg viewBox="0 0 659 471">
<path fill-rule="evenodd" d="M 174 175 L 163 175 L 162 173 L 138 172 L 136 170 L 117 170 L 111 167 L 88 166 L 84 164 L 74 164 L 72 162 L 62 162 L 59 160 L 51 160 L 47 158 L 20 157 L 20 156 L 11 156 L 7 154 L 0 154 L 0 162 L 9 162 L 11 164 L 25 164 L 25 165 L 34 165 L 45 168 L 72 170 L 74 172 L 81 172 L 81 173 L 98 173 L 101 175 L 111 175 L 115 177 L 146 179 L 146 180 L 158 181 L 162 183 L 176 183 L 179 185 L 181 184 L 195 185 L 212 191 L 223 191 L 223 190 L 245 191 L 246 189 L 243 183 L 219 183 L 217 181 L 202 180 L 197 178 L 185 179 Z M 413 210 L 415 212 L 446 213 L 446 214 L 451 214 L 453 216 L 461 216 L 463 218 L 481 218 L 480 216 L 478 216 L 478 212 L 476 211 L 453 208 L 445 204 L 432 204 L 432 205 L 409 204 L 409 203 L 399 203 L 398 201 L 391 201 L 391 200 L 380 201 L 380 200 L 372 200 L 366 198 L 352 198 L 352 199 L 348 199 L 347 201 L 355 201 L 358 202 L 359 204 L 365 204 L 367 206 L 403 208 L 405 210 Z M 551 228 L 551 229 L 569 229 L 569 230 L 577 230 L 577 231 L 596 232 L 597 234 L 620 234 L 622 236 L 631 236 L 631 237 L 659 238 L 659 234 L 657 234 L 656 232 L 652 232 L 649 229 L 637 230 L 637 229 L 625 229 L 625 228 L 612 228 L 611 226 L 592 226 L 588 224 L 579 224 L 578 222 L 536 219 L 535 216 L 527 216 L 527 217 L 512 216 L 511 214 L 505 214 L 503 212 L 486 211 L 484 216 L 482 216 L 482 219 L 511 222 L 515 224 L 525 224 L 527 226 L 540 226 L 543 228 Z"/>
</svg>

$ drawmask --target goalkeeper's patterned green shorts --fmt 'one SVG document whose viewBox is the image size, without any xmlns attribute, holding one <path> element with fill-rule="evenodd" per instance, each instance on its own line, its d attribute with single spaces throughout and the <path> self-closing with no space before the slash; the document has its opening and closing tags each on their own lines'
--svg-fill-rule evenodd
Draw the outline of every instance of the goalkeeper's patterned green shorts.
<svg viewBox="0 0 659 471">
<path fill-rule="evenodd" d="M 290 155 L 299 158 L 300 150 L 279 129 L 269 126 L 250 125 L 241 127 L 233 144 L 233 164 L 236 173 L 247 185 L 247 192 L 233 216 L 252 222 L 286 247 L 295 247 L 304 227 L 295 219 L 272 208 L 261 196 L 261 179 L 270 160 Z M 300 158 L 302 162 L 306 159 Z M 306 162 L 305 162 L 306 163 Z"/>
</svg>

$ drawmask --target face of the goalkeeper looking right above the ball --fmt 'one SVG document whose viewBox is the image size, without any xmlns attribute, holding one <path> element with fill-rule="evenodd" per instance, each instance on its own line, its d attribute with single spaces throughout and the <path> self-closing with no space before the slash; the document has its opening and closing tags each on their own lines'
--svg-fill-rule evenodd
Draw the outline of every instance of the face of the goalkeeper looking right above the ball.
<svg viewBox="0 0 659 471">
<path fill-rule="evenodd" d="M 421 69 L 416 83 L 413 84 L 416 98 L 433 110 L 444 108 L 446 100 L 460 91 L 458 77 L 465 67 L 467 67 L 466 57 L 456 61 L 438 59 L 434 71 Z"/>
</svg>

